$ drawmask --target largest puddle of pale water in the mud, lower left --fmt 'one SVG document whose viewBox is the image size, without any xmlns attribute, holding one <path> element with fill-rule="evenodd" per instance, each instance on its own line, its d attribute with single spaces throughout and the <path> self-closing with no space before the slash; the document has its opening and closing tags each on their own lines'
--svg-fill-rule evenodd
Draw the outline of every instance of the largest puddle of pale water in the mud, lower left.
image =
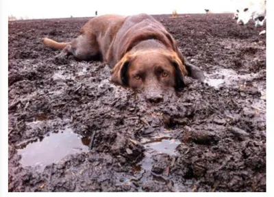
<svg viewBox="0 0 274 197">
<path fill-rule="evenodd" d="M 88 138 L 65 129 L 59 133 L 50 133 L 42 140 L 32 141 L 18 149 L 23 167 L 32 166 L 43 170 L 51 163 L 57 163 L 67 155 L 88 152 Z"/>
</svg>

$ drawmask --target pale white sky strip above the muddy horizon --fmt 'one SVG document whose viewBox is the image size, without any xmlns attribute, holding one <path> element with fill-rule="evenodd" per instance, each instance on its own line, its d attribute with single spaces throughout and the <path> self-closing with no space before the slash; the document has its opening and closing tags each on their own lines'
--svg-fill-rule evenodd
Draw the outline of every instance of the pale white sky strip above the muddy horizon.
<svg viewBox="0 0 274 197">
<path fill-rule="evenodd" d="M 178 14 L 212 12 L 233 12 L 234 1 L 242 0 L 9 0 L 8 15 L 29 18 L 66 18 L 95 16 L 98 14 Z"/>
</svg>

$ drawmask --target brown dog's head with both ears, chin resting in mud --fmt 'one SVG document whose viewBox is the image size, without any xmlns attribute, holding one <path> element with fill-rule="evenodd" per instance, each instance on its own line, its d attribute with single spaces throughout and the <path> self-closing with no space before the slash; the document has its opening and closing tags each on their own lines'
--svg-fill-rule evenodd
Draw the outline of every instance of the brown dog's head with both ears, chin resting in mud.
<svg viewBox="0 0 274 197">
<path fill-rule="evenodd" d="M 184 88 L 186 75 L 184 61 L 177 53 L 153 49 L 126 53 L 114 66 L 111 80 L 142 90 L 149 101 L 157 103 L 166 90 Z"/>
</svg>

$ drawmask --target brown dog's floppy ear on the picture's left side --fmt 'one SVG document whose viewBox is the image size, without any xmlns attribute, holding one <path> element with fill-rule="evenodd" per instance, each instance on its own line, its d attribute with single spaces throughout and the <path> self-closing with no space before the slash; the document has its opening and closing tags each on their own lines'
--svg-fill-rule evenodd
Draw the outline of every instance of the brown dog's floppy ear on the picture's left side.
<svg viewBox="0 0 274 197">
<path fill-rule="evenodd" d="M 111 81 L 119 85 L 127 86 L 127 68 L 129 66 L 129 55 L 124 57 L 112 69 Z"/>
</svg>

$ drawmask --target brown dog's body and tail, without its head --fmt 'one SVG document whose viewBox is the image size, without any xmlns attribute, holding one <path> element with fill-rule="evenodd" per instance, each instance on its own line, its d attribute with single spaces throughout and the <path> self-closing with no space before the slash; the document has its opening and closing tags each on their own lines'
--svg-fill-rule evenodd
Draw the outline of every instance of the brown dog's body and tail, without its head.
<svg viewBox="0 0 274 197">
<path fill-rule="evenodd" d="M 60 43 L 48 38 L 45 38 L 43 42 L 48 47 L 63 49 L 64 54 L 72 53 L 79 60 L 99 57 L 113 67 L 127 51 L 144 40 L 157 40 L 157 47 L 173 49 L 177 52 L 177 46 L 171 34 L 148 14 L 98 16 L 91 18 L 80 30 L 78 38 L 71 42 Z"/>
</svg>

